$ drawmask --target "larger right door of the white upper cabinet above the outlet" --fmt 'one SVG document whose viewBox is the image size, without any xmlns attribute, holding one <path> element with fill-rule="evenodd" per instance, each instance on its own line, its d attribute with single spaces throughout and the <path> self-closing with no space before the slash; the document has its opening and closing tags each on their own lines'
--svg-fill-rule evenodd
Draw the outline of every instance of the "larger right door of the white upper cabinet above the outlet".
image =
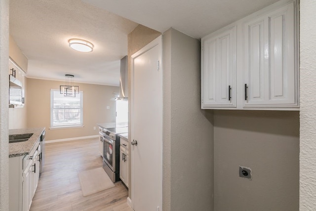
<svg viewBox="0 0 316 211">
<path fill-rule="evenodd" d="M 294 2 L 244 23 L 244 108 L 297 106 Z"/>
</svg>

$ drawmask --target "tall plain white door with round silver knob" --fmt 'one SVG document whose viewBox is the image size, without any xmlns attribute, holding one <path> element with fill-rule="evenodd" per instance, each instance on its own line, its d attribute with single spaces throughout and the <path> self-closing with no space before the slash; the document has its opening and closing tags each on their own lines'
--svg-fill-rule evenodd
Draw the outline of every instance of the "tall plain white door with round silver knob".
<svg viewBox="0 0 316 211">
<path fill-rule="evenodd" d="M 132 206 L 161 211 L 162 68 L 161 36 L 132 55 L 131 148 Z"/>
</svg>

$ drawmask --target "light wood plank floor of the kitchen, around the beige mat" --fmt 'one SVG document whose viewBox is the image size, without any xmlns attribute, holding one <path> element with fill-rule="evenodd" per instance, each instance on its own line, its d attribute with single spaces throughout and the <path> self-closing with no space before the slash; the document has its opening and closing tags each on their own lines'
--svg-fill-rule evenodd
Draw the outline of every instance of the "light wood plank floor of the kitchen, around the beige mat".
<svg viewBox="0 0 316 211">
<path fill-rule="evenodd" d="M 132 211 L 126 203 L 128 190 L 121 181 L 113 188 L 82 196 L 78 173 L 99 167 L 98 139 L 46 144 L 31 211 Z"/>
</svg>

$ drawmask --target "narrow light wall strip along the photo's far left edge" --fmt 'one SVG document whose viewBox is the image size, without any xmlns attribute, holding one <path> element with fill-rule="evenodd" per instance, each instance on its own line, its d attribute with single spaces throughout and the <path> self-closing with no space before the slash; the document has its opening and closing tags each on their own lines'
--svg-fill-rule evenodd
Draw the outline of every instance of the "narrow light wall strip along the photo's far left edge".
<svg viewBox="0 0 316 211">
<path fill-rule="evenodd" d="M 9 210 L 9 0 L 0 1 L 0 211 Z"/>
</svg>

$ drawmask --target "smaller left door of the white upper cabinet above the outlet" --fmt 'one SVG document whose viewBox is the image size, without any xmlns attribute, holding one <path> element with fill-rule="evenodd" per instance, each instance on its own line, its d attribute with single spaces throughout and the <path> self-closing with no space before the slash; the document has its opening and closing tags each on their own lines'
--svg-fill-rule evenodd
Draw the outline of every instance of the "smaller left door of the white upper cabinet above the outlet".
<svg viewBox="0 0 316 211">
<path fill-rule="evenodd" d="M 201 53 L 201 107 L 236 107 L 236 26 L 203 38 Z"/>
</svg>

